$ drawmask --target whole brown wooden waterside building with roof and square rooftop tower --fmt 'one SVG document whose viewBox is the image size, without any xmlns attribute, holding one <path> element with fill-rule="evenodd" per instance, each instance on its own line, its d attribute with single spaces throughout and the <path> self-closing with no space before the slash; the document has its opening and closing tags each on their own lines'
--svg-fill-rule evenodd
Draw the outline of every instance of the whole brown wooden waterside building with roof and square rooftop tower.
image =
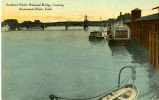
<svg viewBox="0 0 159 100">
<path fill-rule="evenodd" d="M 125 24 L 131 29 L 132 39 L 149 50 L 150 63 L 159 70 L 159 12 L 143 17 L 141 12 L 138 8 L 132 10 L 131 20 Z"/>
</svg>

